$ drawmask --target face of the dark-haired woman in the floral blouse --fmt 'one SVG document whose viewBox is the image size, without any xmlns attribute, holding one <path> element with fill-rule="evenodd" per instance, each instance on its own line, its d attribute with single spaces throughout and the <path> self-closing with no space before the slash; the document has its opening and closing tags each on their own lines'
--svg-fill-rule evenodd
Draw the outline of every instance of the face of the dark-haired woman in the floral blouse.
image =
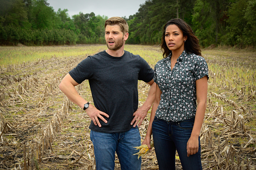
<svg viewBox="0 0 256 170">
<path fill-rule="evenodd" d="M 183 52 L 184 41 L 187 36 L 183 36 L 183 32 L 177 25 L 168 25 L 165 30 L 165 43 L 169 50 L 173 52 Z"/>
</svg>

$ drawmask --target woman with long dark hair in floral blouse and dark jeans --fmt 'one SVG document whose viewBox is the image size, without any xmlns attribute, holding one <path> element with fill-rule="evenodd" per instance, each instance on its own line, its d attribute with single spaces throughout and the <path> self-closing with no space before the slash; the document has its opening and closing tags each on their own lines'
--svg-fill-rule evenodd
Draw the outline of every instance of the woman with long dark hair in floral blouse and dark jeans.
<svg viewBox="0 0 256 170">
<path fill-rule="evenodd" d="M 207 63 L 199 40 L 182 19 L 164 25 L 161 50 L 164 59 L 155 66 L 156 97 L 142 145 L 151 150 L 153 134 L 159 170 L 175 169 L 176 149 L 183 170 L 202 169 L 199 133 L 207 101 Z"/>
</svg>

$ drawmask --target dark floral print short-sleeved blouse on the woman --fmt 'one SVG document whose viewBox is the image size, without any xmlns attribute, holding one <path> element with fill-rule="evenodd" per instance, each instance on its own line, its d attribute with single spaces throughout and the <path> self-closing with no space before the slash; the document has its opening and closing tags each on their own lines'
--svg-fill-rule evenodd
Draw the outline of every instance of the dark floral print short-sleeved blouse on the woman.
<svg viewBox="0 0 256 170">
<path fill-rule="evenodd" d="M 203 57 L 185 50 L 171 69 L 171 56 L 159 60 L 154 81 L 162 91 L 156 117 L 166 121 L 182 121 L 196 116 L 196 80 L 207 75 Z"/>
</svg>

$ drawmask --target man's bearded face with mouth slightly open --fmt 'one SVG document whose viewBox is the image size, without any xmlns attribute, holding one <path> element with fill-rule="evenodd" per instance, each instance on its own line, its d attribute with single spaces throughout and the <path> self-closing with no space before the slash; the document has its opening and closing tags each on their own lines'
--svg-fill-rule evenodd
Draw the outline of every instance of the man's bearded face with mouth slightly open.
<svg viewBox="0 0 256 170">
<path fill-rule="evenodd" d="M 119 50 L 124 45 L 124 34 L 119 25 L 107 25 L 105 29 L 105 40 L 110 50 Z"/>
</svg>

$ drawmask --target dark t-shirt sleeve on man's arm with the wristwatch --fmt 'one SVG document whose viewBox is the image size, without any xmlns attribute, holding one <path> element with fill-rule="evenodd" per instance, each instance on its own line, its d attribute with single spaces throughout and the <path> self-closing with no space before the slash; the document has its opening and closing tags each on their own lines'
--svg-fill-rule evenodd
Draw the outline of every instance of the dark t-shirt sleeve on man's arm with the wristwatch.
<svg viewBox="0 0 256 170">
<path fill-rule="evenodd" d="M 79 84 L 81 84 L 86 79 L 90 79 L 93 74 L 91 57 L 88 56 L 68 73 Z"/>
</svg>

